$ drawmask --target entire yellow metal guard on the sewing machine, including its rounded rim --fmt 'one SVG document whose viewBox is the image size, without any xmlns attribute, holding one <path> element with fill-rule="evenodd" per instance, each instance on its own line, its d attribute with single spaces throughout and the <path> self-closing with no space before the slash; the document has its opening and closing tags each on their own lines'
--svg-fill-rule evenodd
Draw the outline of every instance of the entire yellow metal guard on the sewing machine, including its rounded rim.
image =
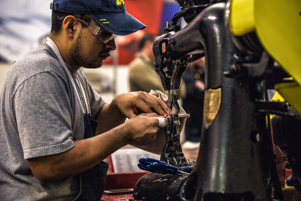
<svg viewBox="0 0 301 201">
<path fill-rule="evenodd" d="M 255 30 L 265 51 L 295 80 L 275 89 L 301 114 L 301 1 L 231 0 L 229 26 L 236 36 Z"/>
</svg>

